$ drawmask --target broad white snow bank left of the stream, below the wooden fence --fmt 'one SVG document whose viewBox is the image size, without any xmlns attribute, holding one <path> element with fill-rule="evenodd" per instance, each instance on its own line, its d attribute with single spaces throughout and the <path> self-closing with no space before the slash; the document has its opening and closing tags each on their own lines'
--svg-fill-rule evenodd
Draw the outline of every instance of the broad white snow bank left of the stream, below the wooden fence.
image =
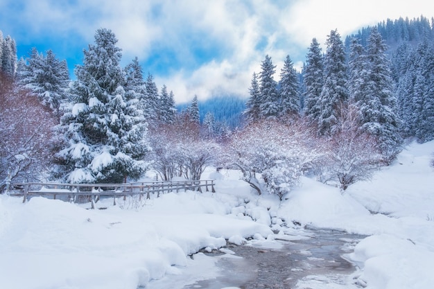
<svg viewBox="0 0 434 289">
<path fill-rule="evenodd" d="M 230 208 L 211 193 L 170 193 L 140 210 L 106 202 L 107 209 L 89 210 L 1 195 L 0 288 L 136 289 L 177 274 L 187 255 L 203 247 L 272 234 L 266 225 L 227 215 Z"/>
</svg>

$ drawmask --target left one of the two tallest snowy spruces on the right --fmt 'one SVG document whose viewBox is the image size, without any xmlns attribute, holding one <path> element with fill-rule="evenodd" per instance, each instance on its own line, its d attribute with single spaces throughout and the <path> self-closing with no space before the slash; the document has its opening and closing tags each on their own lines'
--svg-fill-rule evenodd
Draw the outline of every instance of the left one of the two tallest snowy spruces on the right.
<svg viewBox="0 0 434 289">
<path fill-rule="evenodd" d="M 338 30 L 331 30 L 327 38 L 324 85 L 320 94 L 320 115 L 318 117 L 320 134 L 333 134 L 338 121 L 338 106 L 340 103 L 346 103 L 348 97 L 345 47 Z"/>
</svg>

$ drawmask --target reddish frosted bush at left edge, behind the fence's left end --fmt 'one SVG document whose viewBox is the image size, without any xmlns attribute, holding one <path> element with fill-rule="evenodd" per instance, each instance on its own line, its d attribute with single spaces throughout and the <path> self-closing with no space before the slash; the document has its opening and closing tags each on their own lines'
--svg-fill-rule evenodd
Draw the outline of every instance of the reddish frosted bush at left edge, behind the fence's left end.
<svg viewBox="0 0 434 289">
<path fill-rule="evenodd" d="M 52 161 L 55 118 L 35 96 L 0 80 L 0 193 L 6 182 L 40 181 Z"/>
</svg>

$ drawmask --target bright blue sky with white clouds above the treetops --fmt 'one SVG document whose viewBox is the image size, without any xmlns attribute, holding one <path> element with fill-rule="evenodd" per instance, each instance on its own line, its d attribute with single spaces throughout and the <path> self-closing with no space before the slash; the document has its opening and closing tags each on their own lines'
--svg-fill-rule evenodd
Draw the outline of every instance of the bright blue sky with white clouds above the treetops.
<svg viewBox="0 0 434 289">
<path fill-rule="evenodd" d="M 345 37 L 388 18 L 433 14 L 426 0 L 0 0 L 0 30 L 19 57 L 51 49 L 73 67 L 96 29 L 109 28 L 122 64 L 137 56 L 182 103 L 195 94 L 248 96 L 265 55 L 278 78 L 286 55 L 301 67 L 312 38 L 324 44 L 335 28 Z"/>
</svg>

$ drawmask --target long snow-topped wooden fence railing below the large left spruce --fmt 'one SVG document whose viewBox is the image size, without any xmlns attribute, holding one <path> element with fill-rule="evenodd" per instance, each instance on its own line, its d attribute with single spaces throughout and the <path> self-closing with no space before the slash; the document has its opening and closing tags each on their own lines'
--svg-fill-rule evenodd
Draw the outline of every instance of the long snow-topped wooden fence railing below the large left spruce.
<svg viewBox="0 0 434 289">
<path fill-rule="evenodd" d="M 214 179 L 204 179 L 198 181 L 177 181 L 177 182 L 134 182 L 130 184 L 62 184 L 62 183 L 14 183 L 10 186 L 9 195 L 22 196 L 23 202 L 26 202 L 33 196 L 46 196 L 53 199 L 67 200 L 69 202 L 78 202 L 88 200 L 92 202 L 92 209 L 95 203 L 101 197 L 113 198 L 113 204 L 116 204 L 116 198 L 125 198 L 127 196 L 137 195 L 139 199 L 150 199 L 150 194 L 156 194 L 157 198 L 161 193 L 180 192 L 180 191 L 200 191 L 205 188 L 206 191 L 215 193 Z"/>
</svg>

